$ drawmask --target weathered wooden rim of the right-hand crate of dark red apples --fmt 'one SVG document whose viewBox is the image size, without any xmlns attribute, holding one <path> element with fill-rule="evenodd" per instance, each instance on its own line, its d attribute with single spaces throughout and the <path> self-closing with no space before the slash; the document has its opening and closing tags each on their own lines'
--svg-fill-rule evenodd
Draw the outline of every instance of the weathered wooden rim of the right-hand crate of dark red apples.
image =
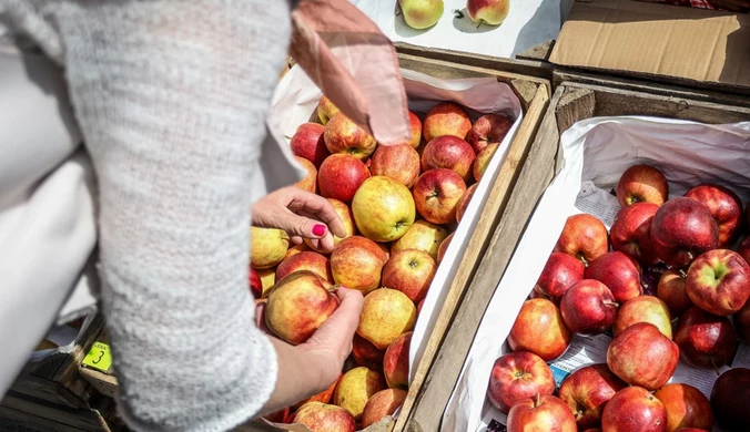
<svg viewBox="0 0 750 432">
<path fill-rule="evenodd" d="M 750 121 L 750 107 L 672 97 L 614 86 L 561 82 L 521 167 L 490 244 L 470 281 L 443 348 L 408 412 L 406 431 L 438 431 L 482 317 L 520 239 L 536 203 L 557 172 L 559 137 L 574 123 L 610 115 L 650 115 L 702 123 Z"/>
</svg>

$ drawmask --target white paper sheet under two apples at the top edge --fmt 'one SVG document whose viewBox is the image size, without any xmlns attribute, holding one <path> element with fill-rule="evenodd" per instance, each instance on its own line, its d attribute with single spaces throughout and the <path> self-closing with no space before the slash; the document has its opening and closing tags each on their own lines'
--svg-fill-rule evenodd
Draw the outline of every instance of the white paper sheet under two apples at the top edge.
<svg viewBox="0 0 750 432">
<path fill-rule="evenodd" d="M 404 17 L 396 17 L 396 0 L 352 0 L 394 42 L 500 58 L 514 58 L 531 47 L 557 39 L 561 18 L 567 17 L 570 0 L 510 1 L 508 17 L 500 25 L 477 24 L 466 14 L 466 0 L 444 0 L 443 17 L 435 27 L 415 30 Z M 454 11 L 463 11 L 456 18 Z"/>
</svg>

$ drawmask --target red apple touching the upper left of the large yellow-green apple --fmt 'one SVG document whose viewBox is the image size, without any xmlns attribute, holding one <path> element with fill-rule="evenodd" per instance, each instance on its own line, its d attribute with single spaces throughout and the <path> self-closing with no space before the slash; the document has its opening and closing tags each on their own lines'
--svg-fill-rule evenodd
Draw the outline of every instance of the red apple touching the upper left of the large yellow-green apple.
<svg viewBox="0 0 750 432">
<path fill-rule="evenodd" d="M 333 154 L 321 164 L 317 186 L 324 197 L 348 203 L 367 178 L 369 171 L 362 161 L 347 154 Z"/>
</svg>

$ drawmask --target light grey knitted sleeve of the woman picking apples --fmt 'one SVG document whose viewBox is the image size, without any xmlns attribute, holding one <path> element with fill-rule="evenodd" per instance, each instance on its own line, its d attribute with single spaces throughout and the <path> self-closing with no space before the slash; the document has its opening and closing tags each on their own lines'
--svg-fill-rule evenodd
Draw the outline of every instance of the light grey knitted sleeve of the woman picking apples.
<svg viewBox="0 0 750 432">
<path fill-rule="evenodd" d="M 65 69 L 99 182 L 102 302 L 126 422 L 220 431 L 271 395 L 247 289 L 250 178 L 290 3 L 0 0 Z"/>
</svg>

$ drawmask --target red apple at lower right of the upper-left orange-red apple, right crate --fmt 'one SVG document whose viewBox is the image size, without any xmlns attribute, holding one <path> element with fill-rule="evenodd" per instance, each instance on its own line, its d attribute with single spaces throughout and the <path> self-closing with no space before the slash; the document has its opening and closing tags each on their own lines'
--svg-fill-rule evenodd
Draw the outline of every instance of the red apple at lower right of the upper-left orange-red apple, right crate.
<svg viewBox="0 0 750 432">
<path fill-rule="evenodd" d="M 627 255 L 611 251 L 590 261 L 586 268 L 586 278 L 596 279 L 612 291 L 619 302 L 643 294 L 640 285 L 640 269 Z"/>
</svg>

